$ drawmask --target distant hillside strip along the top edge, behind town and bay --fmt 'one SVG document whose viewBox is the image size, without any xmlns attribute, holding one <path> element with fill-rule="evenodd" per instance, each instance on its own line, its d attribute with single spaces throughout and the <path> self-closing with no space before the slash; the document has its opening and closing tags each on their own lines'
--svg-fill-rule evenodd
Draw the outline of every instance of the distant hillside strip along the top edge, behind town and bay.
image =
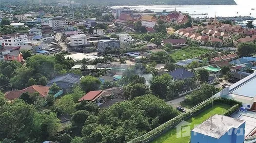
<svg viewBox="0 0 256 143">
<path fill-rule="evenodd" d="M 59 2 L 66 2 L 72 0 L 41 0 L 43 5 L 56 5 Z M 236 4 L 234 0 L 74 0 L 81 4 L 92 5 L 153 5 L 153 4 L 167 4 L 167 5 L 232 5 Z M 39 4 L 39 0 L 0 0 L 3 5 L 17 4 L 17 5 L 34 5 Z"/>
</svg>

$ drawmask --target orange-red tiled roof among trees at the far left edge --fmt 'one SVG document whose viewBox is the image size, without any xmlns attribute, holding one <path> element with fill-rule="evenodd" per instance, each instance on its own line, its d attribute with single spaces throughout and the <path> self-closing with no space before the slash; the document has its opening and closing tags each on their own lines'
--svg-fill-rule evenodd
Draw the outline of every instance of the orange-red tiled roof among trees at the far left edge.
<svg viewBox="0 0 256 143">
<path fill-rule="evenodd" d="M 6 99 L 11 100 L 11 99 L 19 98 L 20 95 L 22 95 L 25 92 L 28 92 L 30 94 L 38 92 L 41 97 L 45 97 L 49 93 L 49 88 L 50 87 L 42 86 L 42 85 L 32 85 L 22 90 L 7 92 L 4 94 L 4 96 Z"/>
</svg>

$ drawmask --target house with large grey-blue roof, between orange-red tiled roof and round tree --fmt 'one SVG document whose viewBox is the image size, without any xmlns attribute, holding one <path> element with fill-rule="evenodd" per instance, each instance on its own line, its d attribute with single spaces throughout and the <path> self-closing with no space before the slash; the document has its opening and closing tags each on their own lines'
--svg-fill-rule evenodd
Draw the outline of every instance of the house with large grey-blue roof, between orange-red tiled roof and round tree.
<svg viewBox="0 0 256 143">
<path fill-rule="evenodd" d="M 64 93 L 72 92 L 75 85 L 79 84 L 82 76 L 73 73 L 68 73 L 64 75 L 57 76 L 50 81 L 48 81 L 47 86 L 51 86 L 56 83 L 60 88 L 63 89 Z"/>
</svg>

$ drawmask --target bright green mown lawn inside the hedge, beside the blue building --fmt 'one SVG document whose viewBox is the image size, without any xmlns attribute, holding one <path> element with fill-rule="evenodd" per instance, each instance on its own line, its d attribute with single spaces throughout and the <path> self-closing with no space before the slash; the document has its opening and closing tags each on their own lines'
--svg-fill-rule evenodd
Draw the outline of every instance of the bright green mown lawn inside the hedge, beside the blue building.
<svg viewBox="0 0 256 143">
<path fill-rule="evenodd" d="M 210 118 L 214 114 L 223 114 L 230 108 L 229 105 L 224 105 L 224 104 L 215 104 L 213 107 L 213 111 L 211 111 L 211 108 L 208 108 L 201 113 L 197 114 L 196 116 L 186 120 L 187 122 L 191 123 L 190 126 L 191 129 L 194 128 L 194 125 L 199 125 L 208 118 Z M 191 130 L 190 129 L 190 130 Z M 190 141 L 190 136 L 188 137 L 181 137 L 177 138 L 177 129 L 172 128 L 169 131 L 167 131 L 165 134 L 159 136 L 156 138 L 154 141 L 151 143 L 189 143 Z M 184 132 L 184 131 L 182 131 Z"/>
</svg>

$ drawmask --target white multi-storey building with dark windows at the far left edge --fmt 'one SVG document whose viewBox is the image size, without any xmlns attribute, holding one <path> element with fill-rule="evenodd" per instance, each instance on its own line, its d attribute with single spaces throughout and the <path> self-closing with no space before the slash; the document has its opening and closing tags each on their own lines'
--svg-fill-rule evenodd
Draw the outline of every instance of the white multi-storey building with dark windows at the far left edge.
<svg viewBox="0 0 256 143">
<path fill-rule="evenodd" d="M 28 41 L 28 35 L 25 33 L 10 34 L 3 37 L 4 48 L 17 48 Z"/>
</svg>

